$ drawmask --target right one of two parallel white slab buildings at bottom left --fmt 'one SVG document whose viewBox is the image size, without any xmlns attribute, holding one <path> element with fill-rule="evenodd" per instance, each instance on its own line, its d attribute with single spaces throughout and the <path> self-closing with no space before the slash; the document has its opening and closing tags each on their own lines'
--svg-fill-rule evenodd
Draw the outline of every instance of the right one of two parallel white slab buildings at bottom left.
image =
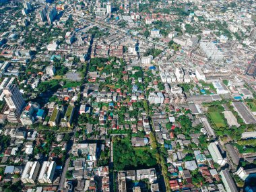
<svg viewBox="0 0 256 192">
<path fill-rule="evenodd" d="M 56 168 L 55 161 L 52 161 L 52 162 L 44 161 L 38 176 L 38 182 L 42 184 L 43 183 L 53 184 L 53 176 L 55 174 L 55 168 Z"/>
</svg>

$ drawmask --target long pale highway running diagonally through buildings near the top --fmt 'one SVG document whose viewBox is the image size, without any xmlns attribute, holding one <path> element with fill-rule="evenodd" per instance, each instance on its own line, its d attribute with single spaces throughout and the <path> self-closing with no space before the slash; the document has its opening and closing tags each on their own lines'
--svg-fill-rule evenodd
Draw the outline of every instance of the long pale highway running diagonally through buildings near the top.
<svg viewBox="0 0 256 192">
<path fill-rule="evenodd" d="M 70 15 L 72 15 L 74 18 L 82 18 L 84 20 L 88 20 L 89 22 L 91 23 L 94 23 L 94 24 L 98 24 L 99 26 L 104 26 L 104 27 L 107 27 L 107 28 L 112 28 L 113 30 L 119 30 L 120 32 L 123 32 L 123 35 L 124 36 L 127 36 L 126 35 L 126 32 L 129 30 L 128 28 L 119 28 L 119 26 L 117 25 L 113 25 L 113 24 L 105 24 L 105 23 L 102 23 L 102 22 L 97 22 L 97 21 L 93 21 L 90 17 L 86 17 L 86 16 L 82 16 L 82 15 L 77 15 L 75 13 L 71 13 L 71 12 L 65 12 L 65 13 L 69 13 Z M 133 35 L 131 35 L 133 36 Z M 161 44 L 160 42 L 156 42 L 156 41 L 153 41 L 153 40 L 148 40 L 146 38 L 144 38 L 143 36 L 139 35 L 139 36 L 133 36 L 141 41 L 146 41 L 146 42 L 151 42 L 152 44 L 157 44 L 159 46 L 162 46 L 164 48 L 168 48 L 168 46 L 164 45 L 164 44 Z"/>
</svg>

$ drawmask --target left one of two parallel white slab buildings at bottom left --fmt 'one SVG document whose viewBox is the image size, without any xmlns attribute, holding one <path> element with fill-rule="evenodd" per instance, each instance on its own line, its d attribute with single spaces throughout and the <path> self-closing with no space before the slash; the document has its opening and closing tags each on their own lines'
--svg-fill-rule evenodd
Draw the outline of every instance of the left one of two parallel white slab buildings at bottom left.
<svg viewBox="0 0 256 192">
<path fill-rule="evenodd" d="M 39 162 L 37 162 L 37 161 L 27 162 L 26 166 L 25 166 L 25 168 L 22 172 L 22 177 L 20 178 L 22 183 L 24 183 L 24 184 L 27 184 L 27 183 L 34 184 L 34 182 L 36 181 L 36 177 L 37 177 L 39 168 L 40 168 Z"/>
</svg>

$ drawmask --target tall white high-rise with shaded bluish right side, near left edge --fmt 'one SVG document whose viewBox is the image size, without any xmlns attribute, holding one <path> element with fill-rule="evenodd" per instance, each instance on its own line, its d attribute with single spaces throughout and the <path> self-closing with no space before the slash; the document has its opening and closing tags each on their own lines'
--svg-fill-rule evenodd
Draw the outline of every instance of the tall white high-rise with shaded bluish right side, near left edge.
<svg viewBox="0 0 256 192">
<path fill-rule="evenodd" d="M 17 110 L 18 113 L 21 113 L 22 108 L 24 107 L 25 101 L 22 97 L 20 90 L 17 86 L 12 85 L 9 88 L 4 88 L 3 93 L 5 94 L 5 101 L 9 106 L 10 110 Z"/>
</svg>

